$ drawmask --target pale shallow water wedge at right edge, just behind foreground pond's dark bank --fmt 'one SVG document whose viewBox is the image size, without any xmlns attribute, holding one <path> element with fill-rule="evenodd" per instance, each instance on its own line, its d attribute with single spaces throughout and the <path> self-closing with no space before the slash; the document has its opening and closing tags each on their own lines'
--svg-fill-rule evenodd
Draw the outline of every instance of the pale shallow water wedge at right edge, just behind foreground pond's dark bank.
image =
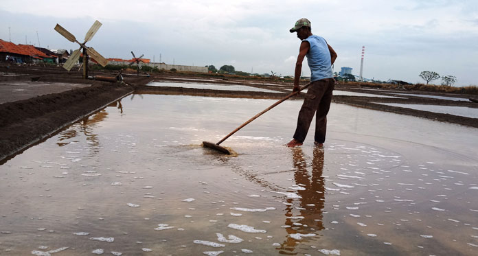
<svg viewBox="0 0 478 256">
<path fill-rule="evenodd" d="M 424 104 L 400 104 L 400 103 L 378 103 L 387 106 L 400 106 L 402 108 L 411 108 L 424 110 L 434 113 L 459 115 L 462 117 L 478 118 L 478 108 L 468 108 L 467 106 L 440 106 Z"/>
</svg>

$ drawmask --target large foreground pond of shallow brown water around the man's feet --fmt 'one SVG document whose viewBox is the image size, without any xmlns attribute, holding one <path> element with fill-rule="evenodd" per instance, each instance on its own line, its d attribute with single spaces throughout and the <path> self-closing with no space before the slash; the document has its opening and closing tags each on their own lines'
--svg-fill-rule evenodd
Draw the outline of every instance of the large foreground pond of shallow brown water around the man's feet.
<svg viewBox="0 0 478 256">
<path fill-rule="evenodd" d="M 0 166 L 0 255 L 477 254 L 477 129 L 332 104 L 325 147 L 289 149 L 288 101 L 236 157 L 199 145 L 273 102 L 135 95 L 26 150 Z"/>
</svg>

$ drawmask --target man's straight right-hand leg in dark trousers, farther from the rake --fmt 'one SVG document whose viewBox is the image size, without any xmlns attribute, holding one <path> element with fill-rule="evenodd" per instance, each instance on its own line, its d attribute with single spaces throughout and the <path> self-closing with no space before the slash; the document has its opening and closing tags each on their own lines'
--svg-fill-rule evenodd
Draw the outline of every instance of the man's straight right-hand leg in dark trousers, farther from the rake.
<svg viewBox="0 0 478 256">
<path fill-rule="evenodd" d="M 332 102 L 332 91 L 334 90 L 334 80 L 328 80 L 326 84 L 326 90 L 320 101 L 317 114 L 315 116 L 315 143 L 320 145 L 326 141 L 327 132 L 327 114 L 330 109 L 330 102 Z"/>
</svg>

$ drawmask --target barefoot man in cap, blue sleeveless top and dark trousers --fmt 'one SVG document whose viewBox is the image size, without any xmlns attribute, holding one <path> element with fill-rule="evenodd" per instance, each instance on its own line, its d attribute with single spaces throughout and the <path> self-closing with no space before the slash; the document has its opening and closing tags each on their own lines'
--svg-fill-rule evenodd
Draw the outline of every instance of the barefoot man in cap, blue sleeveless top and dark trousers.
<svg viewBox="0 0 478 256">
<path fill-rule="evenodd" d="M 308 19 L 299 19 L 289 31 L 291 33 L 297 32 L 297 37 L 302 41 L 299 48 L 299 56 L 297 56 L 297 62 L 295 63 L 293 91 L 299 91 L 300 89 L 299 79 L 304 56 L 307 56 L 307 63 L 312 73 L 310 75 L 310 82 L 312 84 L 308 87 L 305 95 L 306 99 L 299 111 L 294 139 L 287 143 L 286 146 L 294 148 L 302 145 L 316 111 L 315 145 L 322 146 L 323 142 L 326 141 L 327 113 L 332 101 L 332 91 L 335 84 L 332 65 L 337 58 L 337 54 L 325 39 L 312 34 Z"/>
</svg>

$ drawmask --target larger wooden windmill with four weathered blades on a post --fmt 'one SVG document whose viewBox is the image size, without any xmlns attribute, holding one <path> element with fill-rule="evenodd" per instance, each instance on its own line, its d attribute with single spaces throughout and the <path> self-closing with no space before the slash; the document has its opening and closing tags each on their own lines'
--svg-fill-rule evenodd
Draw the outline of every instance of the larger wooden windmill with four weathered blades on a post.
<svg viewBox="0 0 478 256">
<path fill-rule="evenodd" d="M 102 65 L 102 67 L 108 64 L 108 60 L 106 60 L 106 58 L 101 56 L 101 54 L 99 54 L 98 51 L 95 51 L 93 47 L 87 47 L 86 45 L 84 45 L 89 40 L 91 40 L 91 38 L 93 38 L 93 36 L 98 31 L 98 29 L 100 29 L 101 25 L 102 23 L 100 23 L 100 21 L 95 21 L 95 23 L 93 23 L 93 25 L 88 30 L 87 34 L 84 36 L 84 43 L 80 43 L 78 42 L 78 40 L 76 40 L 76 37 L 73 36 L 73 34 L 65 30 L 65 28 L 63 28 L 62 26 L 56 24 L 56 27 L 55 27 L 56 32 L 60 33 L 69 41 L 73 43 L 76 42 L 78 43 L 78 45 L 80 45 L 80 49 L 73 51 L 73 54 L 69 56 L 67 62 L 65 62 L 65 64 L 63 65 L 63 68 L 67 69 L 67 71 L 70 71 L 70 69 L 73 67 L 73 65 L 75 65 L 76 61 L 80 57 L 81 49 L 83 49 L 83 79 L 88 78 L 88 56 L 91 56 L 91 58 L 93 58 L 96 62 Z"/>
</svg>

